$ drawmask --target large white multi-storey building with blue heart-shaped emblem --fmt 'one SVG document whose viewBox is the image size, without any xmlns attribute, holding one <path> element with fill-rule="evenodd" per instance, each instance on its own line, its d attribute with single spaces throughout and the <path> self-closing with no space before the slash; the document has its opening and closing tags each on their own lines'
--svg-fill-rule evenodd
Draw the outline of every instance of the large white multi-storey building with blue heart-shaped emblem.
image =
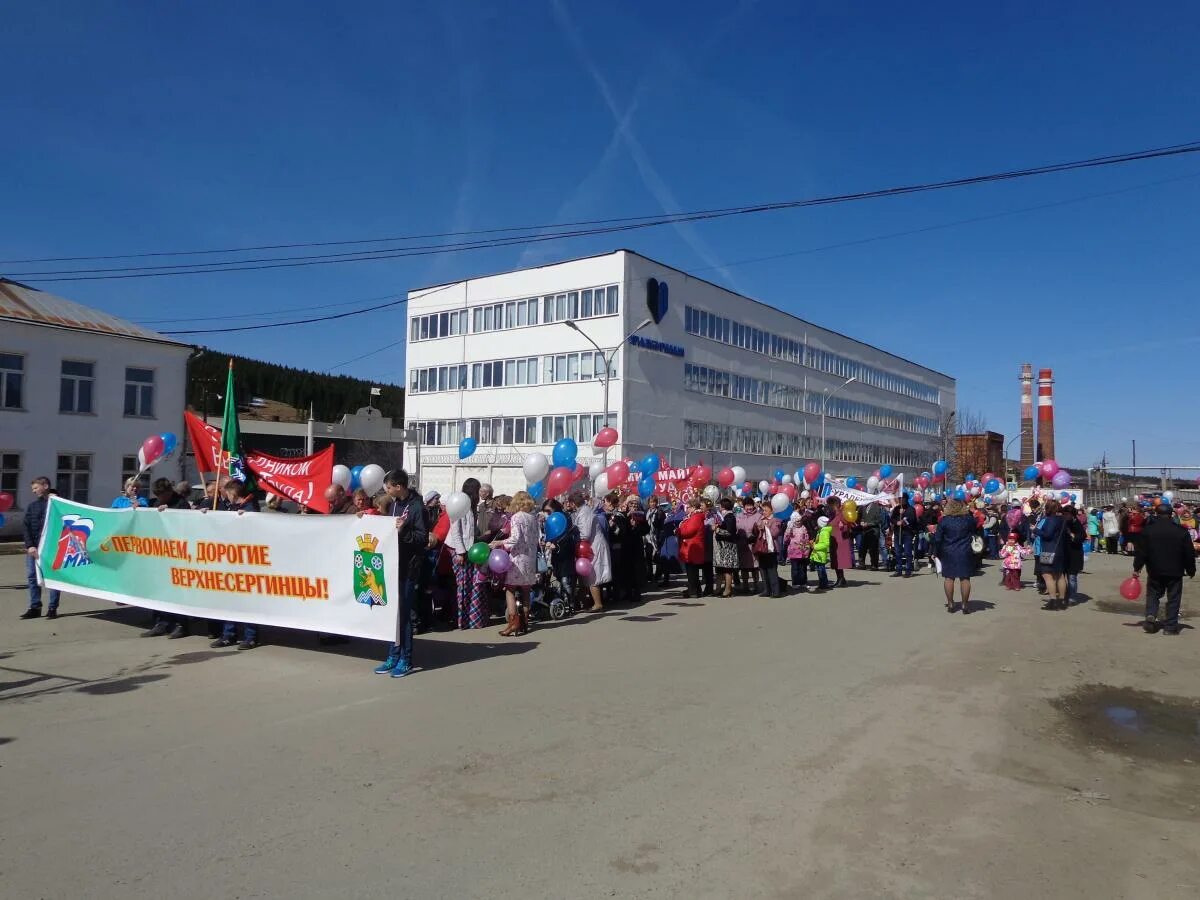
<svg viewBox="0 0 1200 900">
<path fill-rule="evenodd" d="M 920 472 L 954 409 L 947 374 L 628 250 L 408 298 L 404 418 L 422 437 L 422 488 L 474 475 L 511 492 L 526 455 L 563 437 L 586 463 L 606 398 L 610 460 L 654 451 L 754 480 L 821 460 L 823 406 L 827 470 Z M 616 352 L 607 390 L 596 347 Z M 468 434 L 479 449 L 460 461 Z"/>
</svg>

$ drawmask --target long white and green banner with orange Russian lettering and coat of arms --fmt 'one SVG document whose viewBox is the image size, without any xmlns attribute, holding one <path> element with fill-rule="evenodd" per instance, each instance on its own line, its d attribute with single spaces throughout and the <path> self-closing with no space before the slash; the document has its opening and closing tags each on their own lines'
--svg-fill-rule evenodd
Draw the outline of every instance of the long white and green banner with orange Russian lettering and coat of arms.
<svg viewBox="0 0 1200 900">
<path fill-rule="evenodd" d="M 100 509 L 52 497 L 46 584 L 223 622 L 390 641 L 400 608 L 396 520 Z"/>
</svg>

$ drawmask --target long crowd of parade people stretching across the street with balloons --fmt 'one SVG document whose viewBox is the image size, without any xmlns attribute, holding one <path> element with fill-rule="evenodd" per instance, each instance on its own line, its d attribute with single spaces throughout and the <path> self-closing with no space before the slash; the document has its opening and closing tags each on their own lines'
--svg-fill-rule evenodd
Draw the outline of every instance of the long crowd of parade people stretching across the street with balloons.
<svg viewBox="0 0 1200 900">
<path fill-rule="evenodd" d="M 804 492 L 780 510 L 767 498 L 728 491 L 721 496 L 715 488 L 648 502 L 617 491 L 589 497 L 576 488 L 562 502 L 541 504 L 527 491 L 497 496 L 474 478 L 461 491 L 469 508 L 454 517 L 437 491 L 421 497 L 410 488 L 402 469 L 388 473 L 383 491 L 374 497 L 336 484 L 325 493 L 330 515 L 395 518 L 402 602 L 395 642 L 374 670 L 380 674 L 402 677 L 412 671 L 414 632 L 437 626 L 480 629 L 493 616 L 503 616 L 500 636 L 518 636 L 528 631 L 534 610 L 600 612 L 611 604 L 636 604 L 643 592 L 670 589 L 672 583 L 682 584 L 682 598 L 782 596 L 845 590 L 856 584 L 846 577 L 853 569 L 883 569 L 892 577 L 907 578 L 928 568 L 942 578 L 947 611 L 968 613 L 971 580 L 982 572 L 984 559 L 1000 562 L 1001 584 L 1009 590 L 1024 587 L 1022 570 L 1032 559 L 1044 608 L 1067 610 L 1078 599 L 1088 552 L 1129 554 L 1135 571 L 1146 568 L 1146 629 L 1177 634 L 1180 580 L 1194 574 L 1200 546 L 1194 510 L 1169 502 L 1076 509 L 1054 497 L 1024 503 L 948 499 L 914 504 L 901 494 L 858 506 L 836 496 Z M 42 614 L 36 544 L 52 493 L 49 480 L 36 479 L 32 493 L 24 517 L 30 595 L 25 619 Z M 158 479 L 151 493 L 152 500 L 143 498 L 139 482 L 131 479 L 113 506 L 286 510 L 274 496 L 260 508 L 245 484 L 232 479 L 208 482 L 196 502 L 190 499 L 187 482 Z M 556 518 L 559 526 L 552 534 L 547 523 Z M 508 563 L 497 568 L 476 558 L 479 545 L 505 551 Z M 1164 564 L 1168 558 L 1172 562 Z M 676 582 L 680 576 L 682 582 Z M 59 594 L 48 593 L 46 616 L 54 618 Z M 1159 623 L 1158 602 L 1164 595 L 1165 618 Z M 214 648 L 258 646 L 253 624 L 209 626 Z M 145 636 L 163 635 L 187 636 L 187 619 L 156 613 Z"/>
</svg>

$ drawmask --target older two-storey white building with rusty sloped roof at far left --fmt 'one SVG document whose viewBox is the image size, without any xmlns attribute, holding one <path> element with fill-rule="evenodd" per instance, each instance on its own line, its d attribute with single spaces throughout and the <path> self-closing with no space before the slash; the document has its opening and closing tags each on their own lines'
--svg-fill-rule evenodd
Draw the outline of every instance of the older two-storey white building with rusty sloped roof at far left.
<svg viewBox="0 0 1200 900">
<path fill-rule="evenodd" d="M 191 347 L 0 278 L 0 490 L 11 534 L 46 475 L 64 497 L 107 506 L 150 434 L 182 442 Z M 178 452 L 178 451 L 176 451 Z M 179 476 L 176 460 L 161 466 Z"/>
</svg>

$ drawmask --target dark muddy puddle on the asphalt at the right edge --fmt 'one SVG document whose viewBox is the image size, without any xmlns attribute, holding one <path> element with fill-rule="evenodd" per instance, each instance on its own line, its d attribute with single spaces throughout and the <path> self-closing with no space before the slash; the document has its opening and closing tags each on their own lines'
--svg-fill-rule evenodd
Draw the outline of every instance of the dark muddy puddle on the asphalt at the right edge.
<svg viewBox="0 0 1200 900">
<path fill-rule="evenodd" d="M 1200 764 L 1200 698 L 1085 684 L 1051 701 L 1085 745 L 1175 764 Z"/>
</svg>

